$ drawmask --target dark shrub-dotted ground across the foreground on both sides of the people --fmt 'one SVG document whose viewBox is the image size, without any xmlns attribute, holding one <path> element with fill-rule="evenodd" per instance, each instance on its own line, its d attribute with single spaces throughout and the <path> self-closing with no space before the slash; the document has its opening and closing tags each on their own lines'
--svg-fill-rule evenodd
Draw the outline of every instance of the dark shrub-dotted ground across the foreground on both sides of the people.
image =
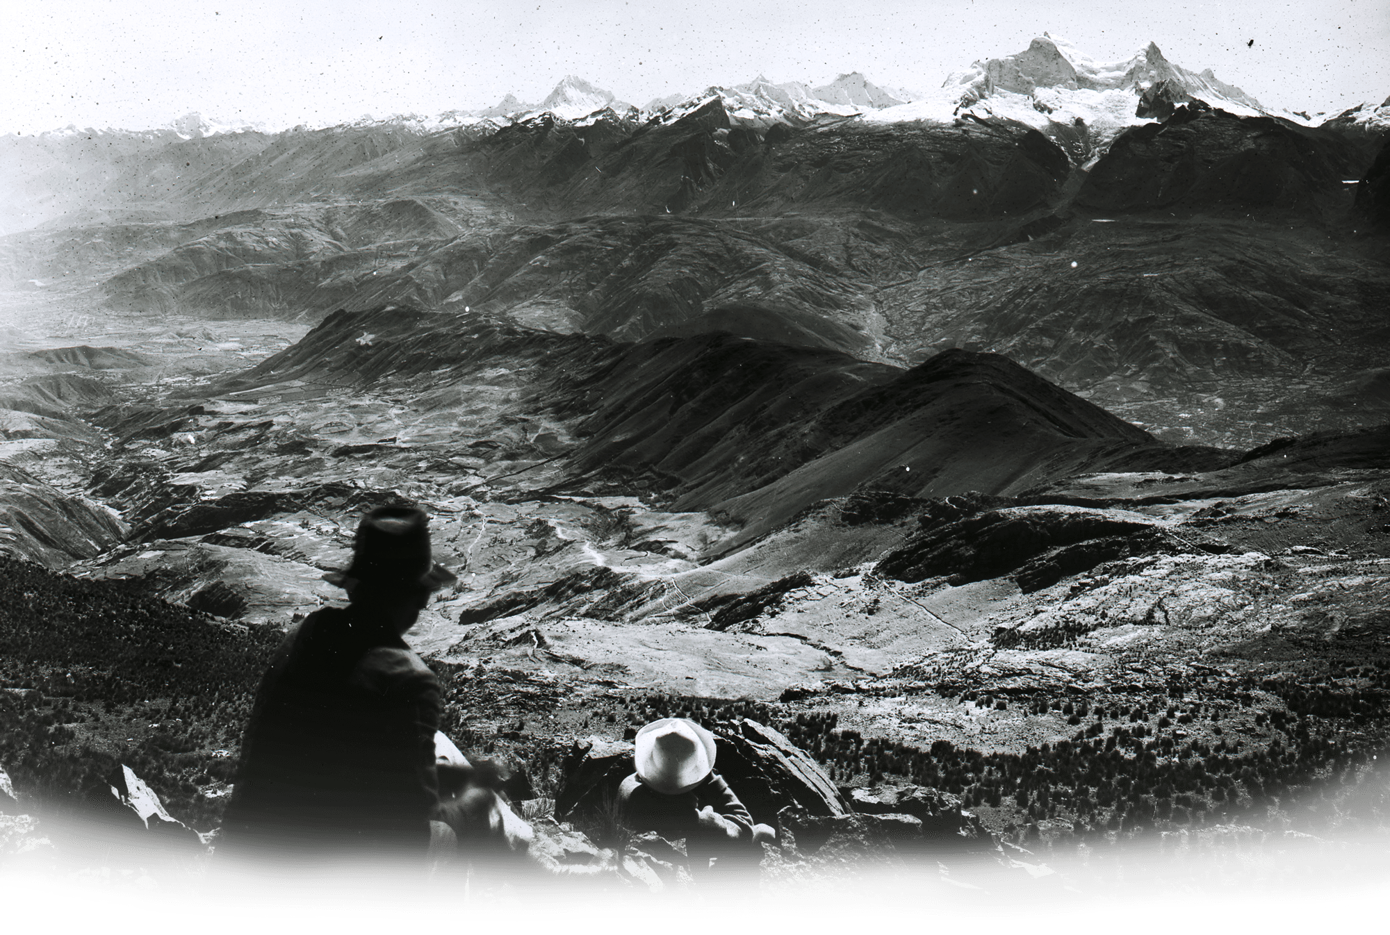
<svg viewBox="0 0 1390 935">
<path fill-rule="evenodd" d="M 54 816 L 125 763 L 192 827 L 217 825 L 274 628 L 228 624 L 147 592 L 0 558 L 0 763 L 21 806 Z M 559 686 L 436 667 L 445 729 L 549 799 L 570 738 L 541 727 Z M 1357 885 L 1390 861 L 1390 668 L 1170 679 L 1165 692 L 1055 696 L 952 688 L 955 703 L 1048 717 L 1073 735 L 1022 753 L 915 747 L 781 703 L 613 693 L 573 734 L 631 736 L 659 717 L 751 717 L 842 786 L 924 785 L 1083 892 Z M 899 689 L 895 689 L 899 690 Z M 510 711 L 486 731 L 474 718 Z M 206 795 L 211 792 L 211 795 Z"/>
</svg>

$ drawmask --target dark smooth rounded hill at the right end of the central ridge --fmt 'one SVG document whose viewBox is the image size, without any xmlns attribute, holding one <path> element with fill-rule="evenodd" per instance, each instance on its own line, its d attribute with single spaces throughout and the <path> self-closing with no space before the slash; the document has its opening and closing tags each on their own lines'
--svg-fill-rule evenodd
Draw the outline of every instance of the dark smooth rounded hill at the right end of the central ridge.
<svg viewBox="0 0 1390 935">
<path fill-rule="evenodd" d="M 856 489 L 1006 495 L 1166 446 L 1002 356 L 951 350 L 749 449 L 733 482 L 677 502 L 748 521 L 724 547 Z"/>
</svg>

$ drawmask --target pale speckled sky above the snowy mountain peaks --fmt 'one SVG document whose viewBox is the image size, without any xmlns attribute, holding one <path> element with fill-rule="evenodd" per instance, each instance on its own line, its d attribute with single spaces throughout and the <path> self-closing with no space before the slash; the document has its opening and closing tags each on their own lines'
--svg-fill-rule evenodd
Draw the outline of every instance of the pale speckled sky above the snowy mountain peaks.
<svg viewBox="0 0 1390 935">
<path fill-rule="evenodd" d="M 1390 94 L 1390 0 L 0 0 L 0 131 L 438 114 L 566 74 L 634 104 L 758 72 L 922 90 L 1044 31 L 1097 60 L 1156 42 L 1269 107 Z"/>
</svg>

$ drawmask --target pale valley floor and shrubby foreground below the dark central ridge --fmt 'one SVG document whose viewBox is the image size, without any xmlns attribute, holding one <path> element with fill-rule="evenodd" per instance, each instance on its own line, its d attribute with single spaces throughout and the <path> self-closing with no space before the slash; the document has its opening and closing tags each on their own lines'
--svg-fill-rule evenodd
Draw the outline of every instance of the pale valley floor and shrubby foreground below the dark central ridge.
<svg viewBox="0 0 1390 935">
<path fill-rule="evenodd" d="M 1384 878 L 1373 431 L 997 497 L 856 490 L 752 535 L 657 471 L 575 460 L 592 424 L 553 381 L 602 347 L 478 332 L 370 382 L 295 364 L 328 333 L 304 324 L 3 301 L 0 766 L 32 807 L 124 761 L 215 825 L 260 660 L 342 600 L 322 575 L 360 513 L 414 502 L 460 584 L 407 640 L 446 684 L 449 734 L 530 764 L 541 799 L 577 740 L 752 715 L 865 809 L 958 796 L 1077 896 Z M 97 624 L 131 614 L 143 629 L 104 659 Z"/>
</svg>

